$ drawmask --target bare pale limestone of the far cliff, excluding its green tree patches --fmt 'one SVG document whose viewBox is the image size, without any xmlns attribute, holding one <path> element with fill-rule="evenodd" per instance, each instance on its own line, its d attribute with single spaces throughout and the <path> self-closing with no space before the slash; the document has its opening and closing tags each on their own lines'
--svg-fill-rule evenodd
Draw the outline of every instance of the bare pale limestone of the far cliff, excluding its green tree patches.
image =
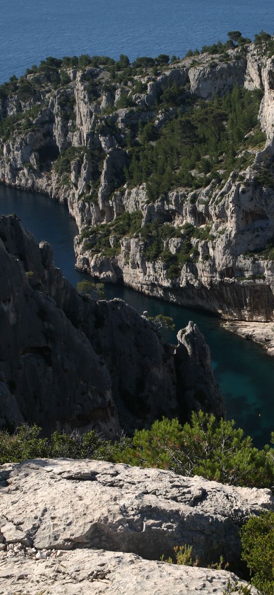
<svg viewBox="0 0 274 595">
<path fill-rule="evenodd" d="M 185 58 L 119 83 L 103 66 L 67 68 L 55 90 L 46 72 L 29 74 L 37 89 L 31 100 L 22 101 L 16 92 L 2 98 L 0 118 L 10 128 L 1 143 L 0 180 L 68 204 L 81 232 L 75 239 L 80 270 L 223 318 L 271 321 L 274 264 L 264 249 L 274 236 L 273 60 L 251 44 L 229 50 L 225 58 Z M 225 181 L 212 179 L 194 190 L 178 187 L 153 201 L 146 183 L 132 187 L 125 181 L 128 138 L 138 142 L 138 126 L 153 122 L 160 131 L 179 109 L 187 111 L 191 97 L 206 101 L 235 84 L 263 91 L 259 121 L 266 146 L 254 141 L 245 151 L 244 168 L 239 151 L 239 167 Z M 174 104 L 161 103 L 172 88 Z M 254 136 L 254 130 L 248 134 Z M 112 227 L 108 249 L 95 250 L 97 227 L 111 226 L 125 212 L 139 212 L 141 227 L 159 221 L 178 228 L 176 237 L 163 239 L 163 251 L 172 261 L 187 240 L 189 258 L 171 275 L 170 262 L 146 258 L 139 230 L 117 234 Z M 185 224 L 193 228 L 188 237 Z"/>
</svg>

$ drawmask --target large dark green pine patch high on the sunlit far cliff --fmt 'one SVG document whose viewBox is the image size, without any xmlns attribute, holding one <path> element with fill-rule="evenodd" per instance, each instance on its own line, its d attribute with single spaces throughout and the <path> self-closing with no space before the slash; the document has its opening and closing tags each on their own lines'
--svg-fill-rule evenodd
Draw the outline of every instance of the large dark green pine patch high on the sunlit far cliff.
<svg viewBox="0 0 274 595">
<path fill-rule="evenodd" d="M 259 90 L 251 92 L 238 85 L 212 101 L 197 101 L 175 83 L 163 87 L 159 101 L 178 102 L 183 109 L 154 138 L 140 133 L 129 151 L 128 183 L 134 187 L 146 182 L 149 200 L 155 201 L 178 186 L 198 188 L 213 179 L 225 181 L 233 169 L 246 167 L 252 159 L 244 149 L 250 146 L 247 135 L 257 125 L 261 99 Z"/>
</svg>

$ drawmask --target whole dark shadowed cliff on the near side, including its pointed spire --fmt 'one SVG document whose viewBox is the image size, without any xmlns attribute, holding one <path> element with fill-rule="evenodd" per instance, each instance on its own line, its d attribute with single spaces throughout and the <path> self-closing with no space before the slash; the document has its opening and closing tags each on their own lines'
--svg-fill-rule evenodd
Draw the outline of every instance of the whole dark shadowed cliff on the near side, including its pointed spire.
<svg viewBox="0 0 274 595">
<path fill-rule="evenodd" d="M 0 218 L 0 276 L 0 426 L 114 436 L 193 408 L 222 415 L 197 328 L 175 349 L 122 300 L 81 297 L 15 215 Z"/>
</svg>

